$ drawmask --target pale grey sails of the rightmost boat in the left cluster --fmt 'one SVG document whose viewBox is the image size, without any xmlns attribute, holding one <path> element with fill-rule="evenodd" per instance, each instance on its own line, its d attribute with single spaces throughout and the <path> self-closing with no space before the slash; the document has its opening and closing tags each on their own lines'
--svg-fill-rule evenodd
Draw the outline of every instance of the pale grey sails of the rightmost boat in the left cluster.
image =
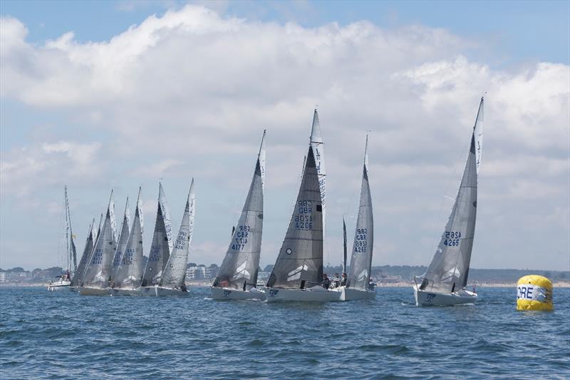
<svg viewBox="0 0 570 380">
<path fill-rule="evenodd" d="M 165 271 L 160 279 L 161 287 L 178 289 L 182 287 L 186 279 L 186 265 L 190 244 L 192 243 L 192 233 L 194 232 L 194 218 L 196 210 L 196 195 L 194 193 L 194 178 L 190 184 L 190 191 L 186 200 L 186 207 L 180 230 L 175 241 L 172 254 L 168 258 Z"/>
</svg>

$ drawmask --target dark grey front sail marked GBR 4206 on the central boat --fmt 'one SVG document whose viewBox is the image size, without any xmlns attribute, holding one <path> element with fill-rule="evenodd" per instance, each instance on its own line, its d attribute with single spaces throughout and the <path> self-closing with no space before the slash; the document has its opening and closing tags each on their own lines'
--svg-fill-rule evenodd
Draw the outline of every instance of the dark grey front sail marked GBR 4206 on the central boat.
<svg viewBox="0 0 570 380">
<path fill-rule="evenodd" d="M 289 229 L 267 282 L 268 287 L 304 288 L 323 275 L 323 207 L 314 148 L 309 145 L 303 179 Z"/>
</svg>

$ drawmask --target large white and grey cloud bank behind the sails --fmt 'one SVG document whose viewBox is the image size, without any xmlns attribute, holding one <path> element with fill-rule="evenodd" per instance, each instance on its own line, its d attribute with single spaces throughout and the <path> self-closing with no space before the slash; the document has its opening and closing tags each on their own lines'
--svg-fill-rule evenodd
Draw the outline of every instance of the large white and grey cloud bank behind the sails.
<svg viewBox="0 0 570 380">
<path fill-rule="evenodd" d="M 457 190 L 478 98 L 487 92 L 480 197 L 488 213 L 480 210 L 474 257 L 484 266 L 513 266 L 509 260 L 524 252 L 534 257 L 522 240 L 513 238 L 509 250 L 515 253 L 504 258 L 492 245 L 493 228 L 508 224 L 509 236 L 521 235 L 515 215 L 529 202 L 541 204 L 535 221 L 558 229 L 559 238 L 544 249 L 570 249 L 561 237 L 568 225 L 559 223 L 569 207 L 569 66 L 542 62 L 498 70 L 465 58 L 476 43 L 424 26 L 386 30 L 361 21 L 304 28 L 224 17 L 202 6 L 149 16 L 109 41 L 80 43 L 70 31 L 33 45 L 20 21 L 4 17 L 0 24 L 2 99 L 59 115 L 62 124 L 77 125 L 78 136 L 86 135 L 73 143 L 64 136 L 30 140 L 2 152 L 3 202 L 70 177 L 88 183 L 85 191 L 101 203 L 111 186 L 129 192 L 141 179 L 148 180 L 150 189 L 143 191 L 152 198 L 164 176 L 178 205 L 194 176 L 200 191 L 195 250 L 207 260 L 212 250 L 226 250 L 225 231 L 241 207 L 267 128 L 264 247 L 275 248 L 264 249 L 262 262 L 271 262 L 318 104 L 331 255 L 338 248 L 338 220 L 356 205 L 364 131 L 370 129 L 382 242 L 375 262 L 425 263 L 447 217 L 447 208 L 438 211 L 443 196 Z M 2 125 L 3 133 L 11 128 Z M 155 208 L 145 202 L 147 221 Z M 546 218 L 553 212 L 562 217 Z M 147 224 L 145 239 L 150 229 Z"/>
</svg>

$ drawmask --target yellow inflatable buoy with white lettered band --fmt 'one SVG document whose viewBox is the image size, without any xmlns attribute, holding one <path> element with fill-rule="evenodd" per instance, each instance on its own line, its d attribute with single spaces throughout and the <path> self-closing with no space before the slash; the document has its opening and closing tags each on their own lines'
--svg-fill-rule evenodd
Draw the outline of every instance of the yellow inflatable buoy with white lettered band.
<svg viewBox="0 0 570 380">
<path fill-rule="evenodd" d="M 552 310 L 552 282 L 530 274 L 517 282 L 517 310 Z"/>
</svg>

